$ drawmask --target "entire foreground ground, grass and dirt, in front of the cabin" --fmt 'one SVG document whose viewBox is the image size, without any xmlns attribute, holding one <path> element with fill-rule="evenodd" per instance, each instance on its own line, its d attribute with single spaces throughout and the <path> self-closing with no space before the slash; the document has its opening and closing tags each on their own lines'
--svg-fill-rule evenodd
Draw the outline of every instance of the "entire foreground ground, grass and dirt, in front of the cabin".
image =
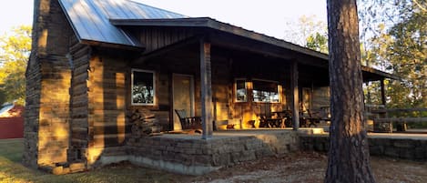
<svg viewBox="0 0 427 183">
<path fill-rule="evenodd" d="M 0 140 L 0 183 L 3 182 L 323 182 L 326 154 L 297 152 L 221 168 L 204 176 L 183 176 L 119 163 L 83 173 L 55 176 L 20 163 L 22 139 Z M 377 182 L 426 182 L 427 162 L 371 158 Z"/>
</svg>

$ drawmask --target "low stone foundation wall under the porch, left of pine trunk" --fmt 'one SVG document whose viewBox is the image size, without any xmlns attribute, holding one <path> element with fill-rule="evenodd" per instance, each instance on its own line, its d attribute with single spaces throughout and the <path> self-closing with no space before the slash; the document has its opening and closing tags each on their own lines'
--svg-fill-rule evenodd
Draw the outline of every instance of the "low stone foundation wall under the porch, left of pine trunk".
<svg viewBox="0 0 427 183">
<path fill-rule="evenodd" d="M 140 166 L 202 175 L 239 162 L 283 156 L 298 150 L 298 145 L 298 134 L 291 130 L 235 131 L 215 134 L 207 140 L 199 135 L 163 135 L 131 139 L 127 155 L 104 155 L 97 165 L 127 160 Z"/>
</svg>

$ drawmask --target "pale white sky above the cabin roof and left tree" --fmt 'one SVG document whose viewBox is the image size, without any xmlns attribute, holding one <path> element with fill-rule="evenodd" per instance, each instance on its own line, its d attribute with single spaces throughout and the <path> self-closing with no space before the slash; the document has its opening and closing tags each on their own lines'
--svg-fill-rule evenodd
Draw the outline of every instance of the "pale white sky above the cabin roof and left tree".
<svg viewBox="0 0 427 183">
<path fill-rule="evenodd" d="M 326 0 L 135 0 L 191 17 L 209 16 L 267 36 L 283 38 L 285 26 L 302 15 L 326 22 Z M 0 35 L 33 24 L 34 0 L 0 1 Z"/>
</svg>

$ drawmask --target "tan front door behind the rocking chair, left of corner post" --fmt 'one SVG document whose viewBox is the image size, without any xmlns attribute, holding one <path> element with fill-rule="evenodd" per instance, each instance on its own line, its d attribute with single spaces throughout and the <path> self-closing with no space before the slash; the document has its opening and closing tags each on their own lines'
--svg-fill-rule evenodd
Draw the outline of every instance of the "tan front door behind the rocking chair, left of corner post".
<svg viewBox="0 0 427 183">
<path fill-rule="evenodd" d="M 181 124 L 175 109 L 185 109 L 188 117 L 194 116 L 193 76 L 173 75 L 174 130 L 181 130 Z"/>
</svg>

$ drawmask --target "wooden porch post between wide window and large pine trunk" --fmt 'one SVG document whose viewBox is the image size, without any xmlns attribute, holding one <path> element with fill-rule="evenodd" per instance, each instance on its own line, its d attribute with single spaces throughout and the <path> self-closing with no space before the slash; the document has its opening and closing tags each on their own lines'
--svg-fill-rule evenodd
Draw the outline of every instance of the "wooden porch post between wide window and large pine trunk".
<svg viewBox="0 0 427 183">
<path fill-rule="evenodd" d="M 299 92 L 298 92 L 298 63 L 293 61 L 290 65 L 290 87 L 292 91 L 292 123 L 293 130 L 298 130 L 300 127 L 300 105 L 299 105 Z"/>
</svg>

